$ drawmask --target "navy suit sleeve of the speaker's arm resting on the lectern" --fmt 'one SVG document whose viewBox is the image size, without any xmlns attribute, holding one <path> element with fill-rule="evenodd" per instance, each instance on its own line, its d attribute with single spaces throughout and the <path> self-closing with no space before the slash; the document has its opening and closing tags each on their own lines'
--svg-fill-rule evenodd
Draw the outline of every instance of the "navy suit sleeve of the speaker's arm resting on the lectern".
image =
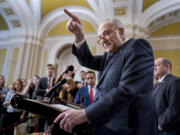
<svg viewBox="0 0 180 135">
<path fill-rule="evenodd" d="M 124 67 L 118 86 L 110 89 L 85 110 L 91 121 L 110 119 L 121 108 L 128 109 L 139 94 L 152 90 L 154 58 L 149 43 L 143 39 L 137 40 L 124 51 Z"/>
</svg>

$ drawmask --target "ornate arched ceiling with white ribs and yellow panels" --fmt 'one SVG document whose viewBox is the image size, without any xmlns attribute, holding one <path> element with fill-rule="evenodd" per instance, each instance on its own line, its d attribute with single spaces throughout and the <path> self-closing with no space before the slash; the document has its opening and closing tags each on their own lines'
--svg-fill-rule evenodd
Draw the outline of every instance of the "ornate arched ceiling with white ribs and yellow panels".
<svg viewBox="0 0 180 135">
<path fill-rule="evenodd" d="M 117 17 L 125 27 L 139 27 L 151 36 L 180 34 L 180 0 L 0 0 L 0 32 L 69 34 L 64 8 L 82 19 L 87 33 Z"/>
</svg>

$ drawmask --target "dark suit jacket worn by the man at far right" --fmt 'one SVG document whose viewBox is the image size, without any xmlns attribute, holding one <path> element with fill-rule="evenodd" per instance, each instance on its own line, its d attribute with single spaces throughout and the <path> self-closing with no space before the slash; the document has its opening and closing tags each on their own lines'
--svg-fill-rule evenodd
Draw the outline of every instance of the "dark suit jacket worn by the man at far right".
<svg viewBox="0 0 180 135">
<path fill-rule="evenodd" d="M 168 74 L 155 93 L 158 123 L 165 135 L 180 135 L 180 78 Z"/>
</svg>

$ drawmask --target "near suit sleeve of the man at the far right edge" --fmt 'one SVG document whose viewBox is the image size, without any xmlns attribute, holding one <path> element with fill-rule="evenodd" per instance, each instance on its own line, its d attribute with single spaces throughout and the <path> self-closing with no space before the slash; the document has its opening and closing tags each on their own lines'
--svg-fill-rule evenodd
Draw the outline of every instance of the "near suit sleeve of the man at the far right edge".
<svg viewBox="0 0 180 135">
<path fill-rule="evenodd" d="M 168 108 L 158 117 L 159 125 L 163 129 L 172 129 L 175 124 L 180 121 L 180 79 L 172 81 L 170 84 L 169 92 L 169 106 Z"/>
</svg>

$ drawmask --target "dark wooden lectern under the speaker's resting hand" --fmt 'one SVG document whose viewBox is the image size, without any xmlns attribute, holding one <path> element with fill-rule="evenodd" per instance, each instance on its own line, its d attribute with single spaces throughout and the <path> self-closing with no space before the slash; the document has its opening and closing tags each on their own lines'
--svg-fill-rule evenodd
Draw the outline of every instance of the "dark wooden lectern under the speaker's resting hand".
<svg viewBox="0 0 180 135">
<path fill-rule="evenodd" d="M 60 99 L 55 100 L 55 104 L 47 104 L 36 100 L 28 99 L 24 95 L 16 94 L 11 100 L 14 108 L 23 109 L 31 113 L 41 115 L 42 117 L 54 121 L 54 119 L 67 108 L 83 109 L 83 106 L 69 103 Z M 92 128 L 88 123 L 77 125 L 73 129 L 73 133 L 67 133 L 61 130 L 58 124 L 52 125 L 52 135 L 93 135 Z"/>
</svg>

